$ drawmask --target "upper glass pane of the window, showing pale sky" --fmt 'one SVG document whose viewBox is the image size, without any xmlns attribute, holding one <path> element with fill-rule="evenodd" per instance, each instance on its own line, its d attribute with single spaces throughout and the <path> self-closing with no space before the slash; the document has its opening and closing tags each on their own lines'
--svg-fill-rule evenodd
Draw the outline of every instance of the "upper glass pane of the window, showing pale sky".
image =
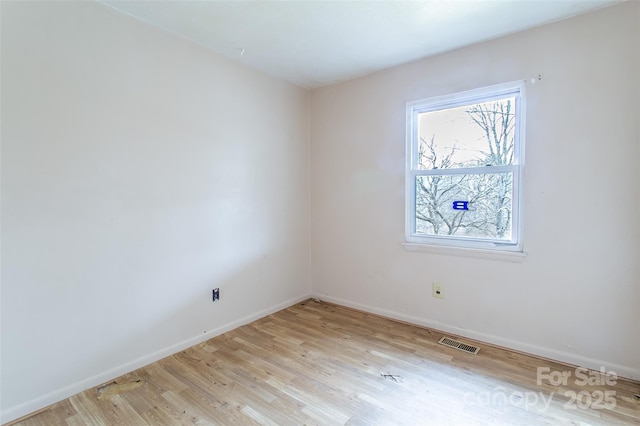
<svg viewBox="0 0 640 426">
<path fill-rule="evenodd" d="M 418 169 L 513 164 L 515 97 L 418 114 Z"/>
</svg>

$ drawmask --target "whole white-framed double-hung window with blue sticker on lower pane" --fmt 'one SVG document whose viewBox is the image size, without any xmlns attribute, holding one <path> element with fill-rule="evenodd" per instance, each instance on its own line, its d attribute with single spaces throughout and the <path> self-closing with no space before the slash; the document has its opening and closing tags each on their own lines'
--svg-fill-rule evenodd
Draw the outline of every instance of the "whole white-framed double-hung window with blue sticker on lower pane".
<svg viewBox="0 0 640 426">
<path fill-rule="evenodd" d="M 408 243 L 521 251 L 524 85 L 407 104 Z"/>
</svg>

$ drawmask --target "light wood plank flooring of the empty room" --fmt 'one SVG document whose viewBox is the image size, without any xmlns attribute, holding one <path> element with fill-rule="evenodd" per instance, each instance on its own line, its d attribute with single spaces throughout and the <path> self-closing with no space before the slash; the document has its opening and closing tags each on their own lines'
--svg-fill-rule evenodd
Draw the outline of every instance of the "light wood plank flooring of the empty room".
<svg viewBox="0 0 640 426">
<path fill-rule="evenodd" d="M 582 385 L 573 367 L 482 343 L 467 354 L 442 336 L 310 300 L 14 424 L 640 424 L 638 383 Z M 538 367 L 571 376 L 538 384 Z"/>
</svg>

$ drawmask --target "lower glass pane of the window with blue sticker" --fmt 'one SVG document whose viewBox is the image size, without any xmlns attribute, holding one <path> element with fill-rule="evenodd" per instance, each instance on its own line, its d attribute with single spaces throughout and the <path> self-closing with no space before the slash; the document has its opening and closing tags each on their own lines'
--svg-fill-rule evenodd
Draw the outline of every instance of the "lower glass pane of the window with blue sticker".
<svg viewBox="0 0 640 426">
<path fill-rule="evenodd" d="M 416 234 L 511 240 L 513 174 L 416 177 Z"/>
</svg>

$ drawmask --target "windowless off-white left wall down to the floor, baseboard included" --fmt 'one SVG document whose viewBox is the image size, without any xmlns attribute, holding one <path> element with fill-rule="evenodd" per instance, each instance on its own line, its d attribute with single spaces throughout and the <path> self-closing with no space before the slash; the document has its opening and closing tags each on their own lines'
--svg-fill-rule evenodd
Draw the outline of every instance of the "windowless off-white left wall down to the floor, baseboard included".
<svg viewBox="0 0 640 426">
<path fill-rule="evenodd" d="M 306 90 L 94 2 L 1 24 L 2 422 L 308 296 Z"/>
</svg>

